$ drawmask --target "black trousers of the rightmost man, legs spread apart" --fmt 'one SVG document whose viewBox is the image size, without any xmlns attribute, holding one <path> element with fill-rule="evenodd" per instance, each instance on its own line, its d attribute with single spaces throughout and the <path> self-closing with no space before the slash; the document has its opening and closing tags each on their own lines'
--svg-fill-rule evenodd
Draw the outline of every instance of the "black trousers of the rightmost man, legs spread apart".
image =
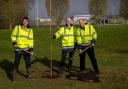
<svg viewBox="0 0 128 89">
<path fill-rule="evenodd" d="M 85 49 L 86 47 L 83 46 L 82 50 Z M 88 54 L 93 69 L 95 70 L 95 72 L 99 72 L 98 66 L 97 66 L 97 61 L 95 58 L 95 54 L 94 54 L 94 47 L 90 47 L 89 49 L 87 49 L 86 51 L 84 51 L 82 54 L 80 54 L 80 70 L 83 71 L 85 70 L 85 60 L 86 60 L 86 53 Z"/>
</svg>

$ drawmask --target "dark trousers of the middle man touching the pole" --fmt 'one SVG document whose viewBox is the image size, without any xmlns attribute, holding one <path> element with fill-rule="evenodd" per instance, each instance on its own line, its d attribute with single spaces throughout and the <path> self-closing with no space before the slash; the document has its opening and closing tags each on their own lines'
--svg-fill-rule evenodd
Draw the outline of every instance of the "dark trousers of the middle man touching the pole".
<svg viewBox="0 0 128 89">
<path fill-rule="evenodd" d="M 62 49 L 62 56 L 61 56 L 62 58 L 61 58 L 61 63 L 60 63 L 60 71 L 64 70 L 67 53 L 69 53 L 68 71 L 71 71 L 71 69 L 72 69 L 74 49 Z"/>
</svg>

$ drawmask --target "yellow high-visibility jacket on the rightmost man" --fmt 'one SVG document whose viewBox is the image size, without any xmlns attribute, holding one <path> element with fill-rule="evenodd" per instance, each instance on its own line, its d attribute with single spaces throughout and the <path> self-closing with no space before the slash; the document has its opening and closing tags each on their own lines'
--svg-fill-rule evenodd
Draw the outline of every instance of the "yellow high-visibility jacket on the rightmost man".
<svg viewBox="0 0 128 89">
<path fill-rule="evenodd" d="M 97 33 L 92 25 L 85 25 L 84 29 L 77 28 L 77 43 L 78 45 L 89 45 L 93 39 L 97 39 Z"/>
</svg>

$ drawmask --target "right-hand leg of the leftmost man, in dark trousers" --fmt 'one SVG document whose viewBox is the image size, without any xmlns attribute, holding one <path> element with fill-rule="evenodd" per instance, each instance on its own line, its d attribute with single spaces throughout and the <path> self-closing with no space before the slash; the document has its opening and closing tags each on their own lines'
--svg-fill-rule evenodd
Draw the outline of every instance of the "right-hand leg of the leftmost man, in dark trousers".
<svg viewBox="0 0 128 89">
<path fill-rule="evenodd" d="M 24 53 L 23 56 L 24 56 L 24 60 L 25 60 L 25 63 L 26 63 L 26 70 L 27 70 L 28 77 L 31 78 L 32 75 L 31 75 L 30 54 Z"/>
</svg>

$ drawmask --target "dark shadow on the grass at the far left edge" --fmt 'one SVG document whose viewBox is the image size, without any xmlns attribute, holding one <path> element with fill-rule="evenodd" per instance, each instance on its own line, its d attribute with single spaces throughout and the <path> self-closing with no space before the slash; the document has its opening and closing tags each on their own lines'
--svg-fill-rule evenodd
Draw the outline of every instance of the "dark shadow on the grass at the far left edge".
<svg viewBox="0 0 128 89">
<path fill-rule="evenodd" d="M 0 68 L 5 71 L 8 79 L 12 81 L 11 71 L 13 70 L 13 63 L 4 59 L 3 61 L 0 61 Z"/>
</svg>

